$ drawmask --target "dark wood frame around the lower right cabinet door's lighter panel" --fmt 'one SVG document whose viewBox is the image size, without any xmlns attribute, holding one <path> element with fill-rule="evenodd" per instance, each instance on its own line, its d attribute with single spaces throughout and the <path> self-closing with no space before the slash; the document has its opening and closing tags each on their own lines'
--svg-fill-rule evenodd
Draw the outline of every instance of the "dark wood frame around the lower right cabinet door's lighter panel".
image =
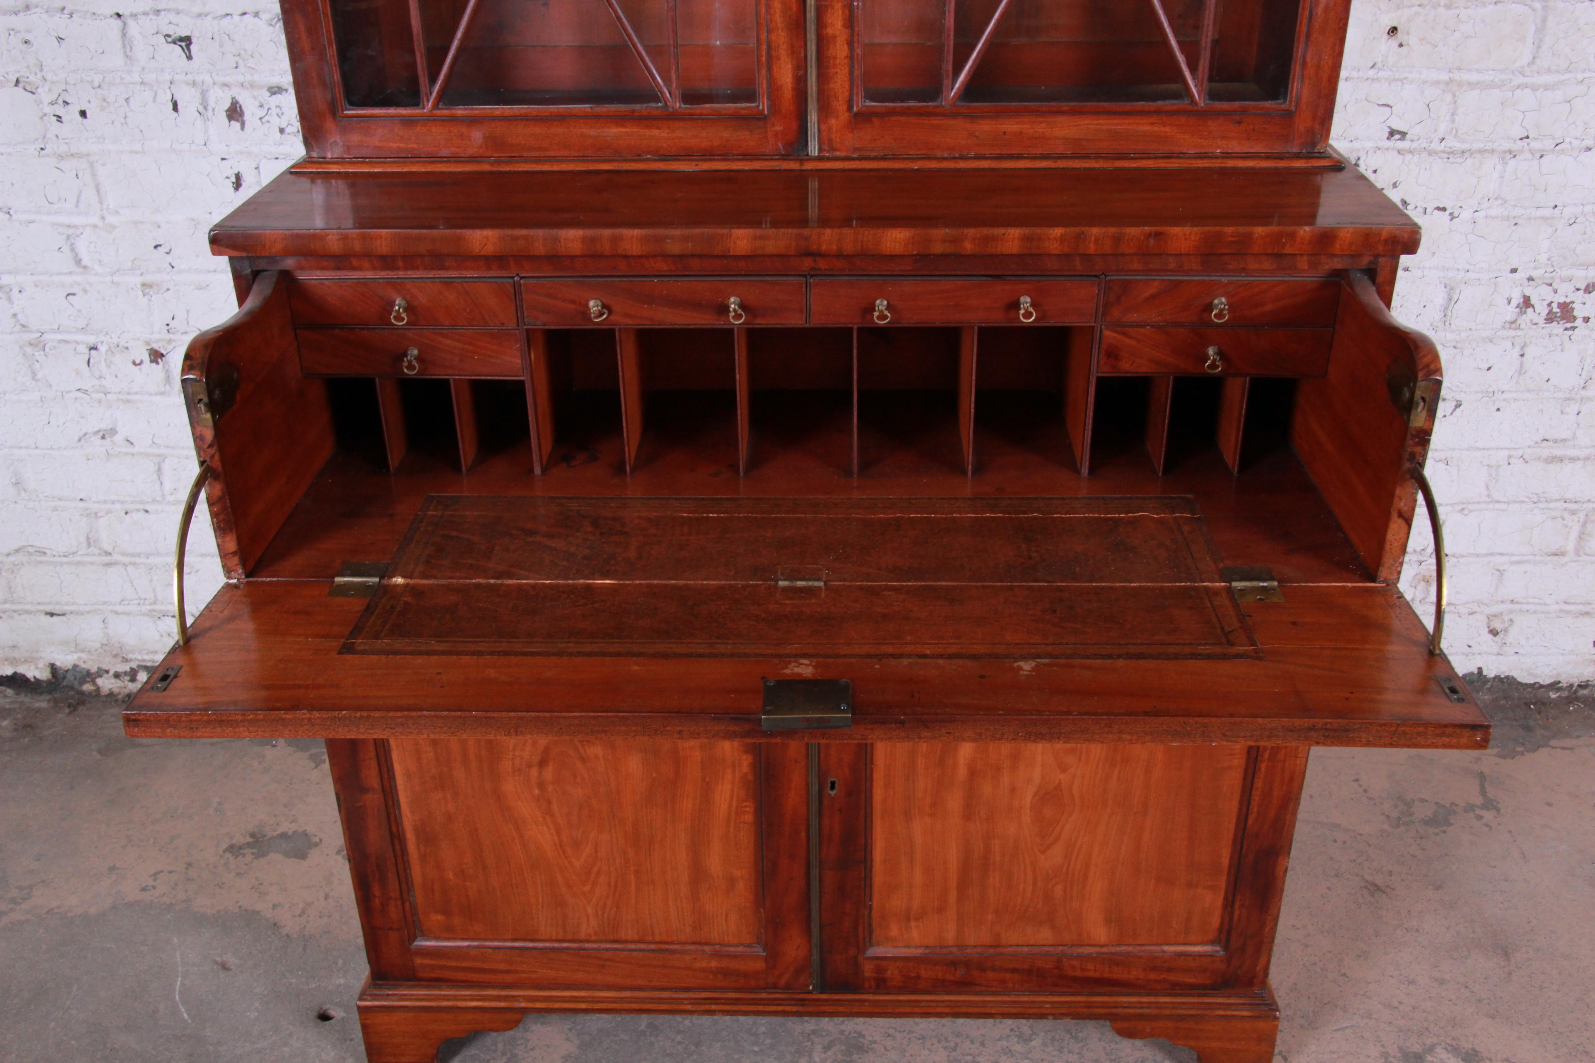
<svg viewBox="0 0 1595 1063">
<path fill-rule="evenodd" d="M 983 955 L 869 955 L 871 746 L 825 743 L 820 754 L 815 982 L 821 991 L 1262 990 L 1306 771 L 1308 746 L 1247 751 L 1223 932 L 1183 950 L 1059 947 Z M 831 779 L 836 789 L 831 790 Z"/>
</svg>

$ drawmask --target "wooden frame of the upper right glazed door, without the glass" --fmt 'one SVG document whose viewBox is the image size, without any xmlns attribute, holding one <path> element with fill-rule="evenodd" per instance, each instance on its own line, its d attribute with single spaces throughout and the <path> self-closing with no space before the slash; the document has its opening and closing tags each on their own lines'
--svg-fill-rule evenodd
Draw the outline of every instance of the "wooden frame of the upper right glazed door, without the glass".
<svg viewBox="0 0 1595 1063">
<path fill-rule="evenodd" d="M 1324 153 L 1349 0 L 1305 0 L 1282 104 L 864 104 L 858 5 L 817 5 L 820 155 L 1276 155 Z M 1150 11 L 1150 8 L 1148 8 Z"/>
</svg>

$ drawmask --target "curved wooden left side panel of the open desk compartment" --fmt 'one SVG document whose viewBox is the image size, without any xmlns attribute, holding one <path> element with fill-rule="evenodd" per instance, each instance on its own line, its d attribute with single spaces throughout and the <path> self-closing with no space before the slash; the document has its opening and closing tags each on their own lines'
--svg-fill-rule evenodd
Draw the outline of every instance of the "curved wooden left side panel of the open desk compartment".
<svg viewBox="0 0 1595 1063">
<path fill-rule="evenodd" d="M 188 426 L 211 465 L 206 500 L 228 579 L 254 567 L 333 451 L 325 386 L 298 370 L 287 288 L 282 274 L 260 274 L 238 314 L 183 354 Z M 206 410 L 201 387 L 214 390 Z M 230 408 L 212 418 L 209 403 L 231 387 Z"/>
</svg>

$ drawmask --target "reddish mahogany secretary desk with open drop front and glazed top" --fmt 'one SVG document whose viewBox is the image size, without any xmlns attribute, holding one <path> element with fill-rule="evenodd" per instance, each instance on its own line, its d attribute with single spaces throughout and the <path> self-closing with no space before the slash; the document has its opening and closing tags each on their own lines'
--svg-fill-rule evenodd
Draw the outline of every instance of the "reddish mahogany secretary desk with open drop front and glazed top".
<svg viewBox="0 0 1595 1063">
<path fill-rule="evenodd" d="M 228 583 L 124 719 L 327 739 L 368 1058 L 1271 1060 L 1309 747 L 1490 735 L 1396 586 L 1440 362 L 1327 148 L 1348 0 L 282 13 L 308 155 L 182 370 Z"/>
</svg>

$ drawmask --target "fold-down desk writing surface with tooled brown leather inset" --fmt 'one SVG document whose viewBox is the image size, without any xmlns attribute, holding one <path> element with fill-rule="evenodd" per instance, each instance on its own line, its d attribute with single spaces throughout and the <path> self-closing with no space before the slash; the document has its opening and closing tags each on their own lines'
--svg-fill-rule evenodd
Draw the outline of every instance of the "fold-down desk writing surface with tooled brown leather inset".
<svg viewBox="0 0 1595 1063">
<path fill-rule="evenodd" d="M 799 741 L 1488 741 L 1396 588 L 1241 604 L 1182 496 L 429 496 L 372 598 L 225 586 L 126 725 L 772 738 L 764 679 L 852 682 Z"/>
</svg>

